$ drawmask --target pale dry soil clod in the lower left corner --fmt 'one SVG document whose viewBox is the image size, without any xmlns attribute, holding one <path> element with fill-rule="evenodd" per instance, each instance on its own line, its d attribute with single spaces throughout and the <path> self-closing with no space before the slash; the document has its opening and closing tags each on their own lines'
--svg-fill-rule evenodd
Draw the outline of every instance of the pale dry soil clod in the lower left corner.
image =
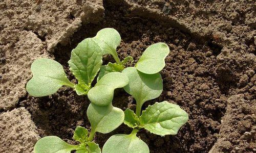
<svg viewBox="0 0 256 153">
<path fill-rule="evenodd" d="M 32 152 L 40 139 L 31 114 L 17 108 L 0 114 L 0 152 Z"/>
</svg>

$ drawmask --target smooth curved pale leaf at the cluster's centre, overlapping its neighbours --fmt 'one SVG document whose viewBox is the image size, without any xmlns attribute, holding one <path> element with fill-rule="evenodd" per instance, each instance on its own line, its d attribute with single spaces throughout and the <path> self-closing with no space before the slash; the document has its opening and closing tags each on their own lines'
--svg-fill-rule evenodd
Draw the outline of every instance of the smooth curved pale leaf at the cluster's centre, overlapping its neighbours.
<svg viewBox="0 0 256 153">
<path fill-rule="evenodd" d="M 97 84 L 88 92 L 90 101 L 98 106 L 108 106 L 114 96 L 116 88 L 122 88 L 129 83 L 125 74 L 120 72 L 111 72 L 105 74 Z"/>
</svg>

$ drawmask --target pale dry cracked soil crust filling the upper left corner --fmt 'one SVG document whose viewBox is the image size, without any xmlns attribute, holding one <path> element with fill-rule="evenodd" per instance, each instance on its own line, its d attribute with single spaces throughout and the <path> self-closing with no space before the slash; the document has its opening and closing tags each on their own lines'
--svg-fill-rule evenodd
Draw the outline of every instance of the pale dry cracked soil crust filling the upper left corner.
<svg viewBox="0 0 256 153">
<path fill-rule="evenodd" d="M 97 22 L 101 1 L 0 2 L 0 110 L 14 108 L 26 96 L 30 65 L 58 43 L 66 45 L 81 23 Z M 93 17 L 93 19 L 92 19 Z"/>
</svg>

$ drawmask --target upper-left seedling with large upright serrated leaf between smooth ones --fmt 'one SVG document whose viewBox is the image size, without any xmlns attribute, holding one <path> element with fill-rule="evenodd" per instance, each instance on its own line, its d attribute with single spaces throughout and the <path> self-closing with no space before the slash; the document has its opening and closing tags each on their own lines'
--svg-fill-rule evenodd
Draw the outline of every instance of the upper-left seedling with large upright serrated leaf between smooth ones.
<svg viewBox="0 0 256 153">
<path fill-rule="evenodd" d="M 27 91 L 35 97 L 51 95 L 61 87 L 73 88 L 78 95 L 86 95 L 92 88 L 92 82 L 99 72 L 97 81 L 103 75 L 110 72 L 120 72 L 125 63 L 133 61 L 132 57 L 126 57 L 123 61 L 117 56 L 116 48 L 121 42 L 119 33 L 113 28 L 100 30 L 93 38 L 81 41 L 71 52 L 69 60 L 70 71 L 74 74 L 78 83 L 70 82 L 58 62 L 41 58 L 31 65 L 33 78 L 27 84 Z M 102 65 L 102 56 L 111 54 L 116 63 Z"/>
</svg>

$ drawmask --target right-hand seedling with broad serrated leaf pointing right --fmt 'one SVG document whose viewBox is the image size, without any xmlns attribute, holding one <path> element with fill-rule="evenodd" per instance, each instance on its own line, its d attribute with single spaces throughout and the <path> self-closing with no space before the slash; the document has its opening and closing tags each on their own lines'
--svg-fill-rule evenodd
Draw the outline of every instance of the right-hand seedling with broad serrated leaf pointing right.
<svg viewBox="0 0 256 153">
<path fill-rule="evenodd" d="M 145 142 L 136 134 L 141 129 L 160 135 L 176 135 L 180 127 L 188 120 L 187 113 L 178 105 L 163 101 L 148 106 L 141 114 L 145 101 L 157 98 L 163 90 L 162 77 L 159 71 L 165 65 L 164 59 L 169 48 L 164 43 L 156 43 L 148 48 L 136 63 L 135 67 L 127 67 L 122 73 L 129 78 L 124 90 L 136 100 L 136 114 L 126 109 L 124 124 L 133 128 L 130 135 L 113 135 L 105 142 L 102 152 L 150 152 Z"/>
</svg>

